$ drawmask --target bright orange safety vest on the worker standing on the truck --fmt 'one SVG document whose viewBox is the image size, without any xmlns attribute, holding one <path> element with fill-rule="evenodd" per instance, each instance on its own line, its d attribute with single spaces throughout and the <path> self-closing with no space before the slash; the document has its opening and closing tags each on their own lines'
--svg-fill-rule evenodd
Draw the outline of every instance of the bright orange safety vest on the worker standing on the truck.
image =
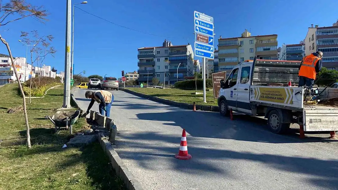
<svg viewBox="0 0 338 190">
<path fill-rule="evenodd" d="M 303 58 L 303 63 L 300 66 L 298 76 L 316 79 L 316 64 L 320 60 L 319 57 L 311 54 Z"/>
</svg>

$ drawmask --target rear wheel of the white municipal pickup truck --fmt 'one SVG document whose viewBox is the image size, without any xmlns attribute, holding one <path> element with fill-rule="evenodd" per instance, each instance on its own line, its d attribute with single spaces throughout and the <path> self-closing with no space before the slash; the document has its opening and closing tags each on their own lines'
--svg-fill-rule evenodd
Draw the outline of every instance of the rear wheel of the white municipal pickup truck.
<svg viewBox="0 0 338 190">
<path fill-rule="evenodd" d="M 283 117 L 278 111 L 270 111 L 268 116 L 268 125 L 272 133 L 283 134 L 288 131 L 288 129 L 290 128 L 290 124 L 282 123 L 282 119 Z"/>
</svg>

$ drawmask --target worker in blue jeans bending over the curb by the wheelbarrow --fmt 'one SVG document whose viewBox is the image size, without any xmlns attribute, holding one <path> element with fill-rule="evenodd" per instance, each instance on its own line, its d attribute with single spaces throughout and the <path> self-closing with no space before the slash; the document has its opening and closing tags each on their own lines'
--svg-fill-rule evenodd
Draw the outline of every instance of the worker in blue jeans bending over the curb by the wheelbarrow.
<svg viewBox="0 0 338 190">
<path fill-rule="evenodd" d="M 110 117 L 110 109 L 112 107 L 112 103 L 114 101 L 114 95 L 111 92 L 106 90 L 97 90 L 97 91 L 86 91 L 84 94 L 86 98 L 91 98 L 91 102 L 89 103 L 86 115 L 89 114 L 89 110 L 94 105 L 94 102 L 99 103 L 99 112 L 101 115 L 105 115 L 106 117 Z"/>
</svg>

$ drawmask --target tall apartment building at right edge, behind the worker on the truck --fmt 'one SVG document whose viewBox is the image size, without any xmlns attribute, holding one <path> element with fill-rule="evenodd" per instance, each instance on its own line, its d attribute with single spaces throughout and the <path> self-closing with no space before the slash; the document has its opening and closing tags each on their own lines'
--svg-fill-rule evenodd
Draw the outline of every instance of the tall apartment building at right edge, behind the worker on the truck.
<svg viewBox="0 0 338 190">
<path fill-rule="evenodd" d="M 305 54 L 322 51 L 322 64 L 327 69 L 338 70 L 338 20 L 332 26 L 318 27 L 311 24 L 304 39 Z"/>
</svg>

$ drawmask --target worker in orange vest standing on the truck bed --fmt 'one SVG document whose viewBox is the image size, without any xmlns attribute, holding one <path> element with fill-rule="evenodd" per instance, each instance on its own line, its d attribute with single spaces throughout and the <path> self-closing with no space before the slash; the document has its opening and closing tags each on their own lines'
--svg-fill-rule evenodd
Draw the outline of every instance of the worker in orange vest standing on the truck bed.
<svg viewBox="0 0 338 190">
<path fill-rule="evenodd" d="M 300 86 L 312 87 L 315 79 L 316 73 L 319 73 L 322 67 L 321 58 L 323 57 L 323 52 L 317 51 L 310 55 L 307 55 L 303 58 L 299 67 L 299 83 Z"/>
</svg>

